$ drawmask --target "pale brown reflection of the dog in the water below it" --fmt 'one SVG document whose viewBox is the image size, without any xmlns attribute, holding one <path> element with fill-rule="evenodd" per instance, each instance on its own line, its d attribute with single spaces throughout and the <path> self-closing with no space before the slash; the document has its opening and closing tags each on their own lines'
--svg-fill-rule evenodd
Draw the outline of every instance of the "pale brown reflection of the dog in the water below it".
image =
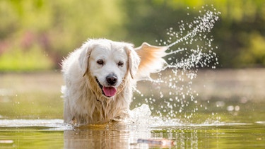
<svg viewBox="0 0 265 149">
<path fill-rule="evenodd" d="M 151 136 L 150 130 L 137 133 L 128 126 L 82 126 L 64 131 L 64 148 L 130 148 L 137 136 Z"/>
</svg>

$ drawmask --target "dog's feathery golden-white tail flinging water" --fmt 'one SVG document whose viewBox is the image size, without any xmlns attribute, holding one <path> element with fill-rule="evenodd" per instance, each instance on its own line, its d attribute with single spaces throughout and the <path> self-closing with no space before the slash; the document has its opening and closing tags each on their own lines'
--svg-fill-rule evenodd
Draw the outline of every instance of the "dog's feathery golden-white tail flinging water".
<svg viewBox="0 0 265 149">
<path fill-rule="evenodd" d="M 151 73 L 158 73 L 167 67 L 167 62 L 163 59 L 167 55 L 165 52 L 168 47 L 158 47 L 143 42 L 140 47 L 136 47 L 136 53 L 141 62 L 136 74 L 136 80 L 151 80 Z"/>
</svg>

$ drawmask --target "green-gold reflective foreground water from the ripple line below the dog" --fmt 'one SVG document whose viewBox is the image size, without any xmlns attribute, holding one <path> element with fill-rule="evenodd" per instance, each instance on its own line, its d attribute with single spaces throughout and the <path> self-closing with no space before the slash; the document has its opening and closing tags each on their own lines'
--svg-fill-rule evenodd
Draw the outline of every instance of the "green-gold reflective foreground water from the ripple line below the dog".
<svg viewBox="0 0 265 149">
<path fill-rule="evenodd" d="M 35 121 L 35 124 L 34 124 Z M 42 121 L 42 122 L 40 122 Z M 264 148 L 265 121 L 181 126 L 136 126 L 112 122 L 75 128 L 58 119 L 20 120 L 0 127 L 0 148 Z M 4 124 L 11 121 L 1 120 Z M 53 123 L 53 124 L 52 124 Z M 15 126 L 14 124 L 18 124 Z M 167 138 L 172 146 L 137 143 Z"/>
</svg>

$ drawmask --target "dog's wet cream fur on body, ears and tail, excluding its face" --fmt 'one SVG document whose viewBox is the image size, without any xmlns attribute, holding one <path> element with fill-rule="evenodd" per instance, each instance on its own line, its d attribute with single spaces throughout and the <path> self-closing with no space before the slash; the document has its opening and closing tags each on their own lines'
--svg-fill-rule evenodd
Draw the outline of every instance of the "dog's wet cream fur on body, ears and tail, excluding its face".
<svg viewBox="0 0 265 149">
<path fill-rule="evenodd" d="M 127 54 L 126 74 L 113 97 L 102 95 L 95 76 L 90 72 L 93 70 L 89 69 L 90 53 L 101 43 L 117 44 L 123 47 Z M 165 64 L 162 59 L 164 53 L 165 47 L 152 47 L 146 43 L 134 49 L 132 44 L 125 42 L 88 40 L 81 48 L 69 54 L 62 63 L 65 82 L 61 88 L 64 97 L 64 122 L 104 124 L 112 119 L 129 117 L 129 105 L 136 81 L 159 71 Z"/>
</svg>

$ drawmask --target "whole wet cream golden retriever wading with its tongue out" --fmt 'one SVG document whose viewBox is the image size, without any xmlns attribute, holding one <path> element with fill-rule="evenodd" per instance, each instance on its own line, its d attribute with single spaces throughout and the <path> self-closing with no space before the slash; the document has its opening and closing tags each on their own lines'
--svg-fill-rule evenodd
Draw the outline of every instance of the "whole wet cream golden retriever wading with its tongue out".
<svg viewBox="0 0 265 149">
<path fill-rule="evenodd" d="M 136 82 L 166 66 L 167 47 L 90 39 L 62 61 L 64 122 L 105 124 L 129 117 Z"/>
</svg>

